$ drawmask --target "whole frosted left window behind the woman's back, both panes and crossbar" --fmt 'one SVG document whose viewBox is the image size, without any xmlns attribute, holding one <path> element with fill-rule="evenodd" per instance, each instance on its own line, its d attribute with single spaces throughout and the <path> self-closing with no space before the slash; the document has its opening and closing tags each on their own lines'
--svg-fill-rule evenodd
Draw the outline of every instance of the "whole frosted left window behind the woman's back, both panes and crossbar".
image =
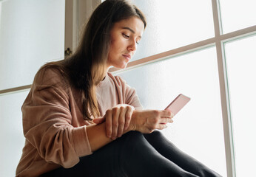
<svg viewBox="0 0 256 177">
<path fill-rule="evenodd" d="M 24 146 L 21 105 L 33 77 L 64 58 L 64 17 L 64 0 L 0 1 L 0 176 L 15 176 Z"/>
</svg>

